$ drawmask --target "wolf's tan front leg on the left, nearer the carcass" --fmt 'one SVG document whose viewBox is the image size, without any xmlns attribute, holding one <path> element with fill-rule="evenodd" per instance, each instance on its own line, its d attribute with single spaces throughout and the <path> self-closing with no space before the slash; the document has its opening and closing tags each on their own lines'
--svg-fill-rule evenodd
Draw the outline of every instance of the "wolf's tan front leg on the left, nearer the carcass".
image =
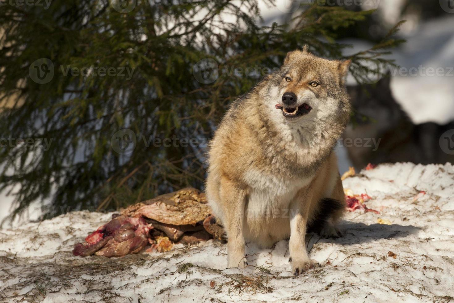
<svg viewBox="0 0 454 303">
<path fill-rule="evenodd" d="M 245 268 L 243 224 L 246 196 L 225 178 L 221 181 L 220 196 L 225 216 L 222 223 L 227 235 L 227 267 Z"/>
</svg>

